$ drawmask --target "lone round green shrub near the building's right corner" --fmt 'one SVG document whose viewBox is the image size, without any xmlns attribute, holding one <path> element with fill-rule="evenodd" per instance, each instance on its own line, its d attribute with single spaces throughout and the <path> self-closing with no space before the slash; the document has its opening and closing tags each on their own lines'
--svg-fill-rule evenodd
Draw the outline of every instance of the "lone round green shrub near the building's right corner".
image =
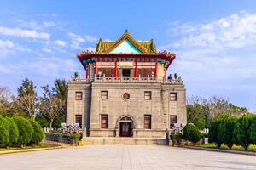
<svg viewBox="0 0 256 170">
<path fill-rule="evenodd" d="M 198 127 L 193 124 L 187 124 L 183 129 L 183 139 L 196 143 L 201 139 L 201 133 Z"/>
</svg>

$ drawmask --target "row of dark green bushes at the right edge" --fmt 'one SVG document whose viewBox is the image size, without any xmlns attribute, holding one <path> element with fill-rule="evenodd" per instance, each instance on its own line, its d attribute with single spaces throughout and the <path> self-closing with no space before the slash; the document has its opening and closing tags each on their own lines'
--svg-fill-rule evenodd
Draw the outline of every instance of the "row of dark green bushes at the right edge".
<svg viewBox="0 0 256 170">
<path fill-rule="evenodd" d="M 231 149 L 236 144 L 247 150 L 250 144 L 256 144 L 256 116 L 228 115 L 216 119 L 209 129 L 209 142 L 218 148 L 226 144 Z"/>
</svg>

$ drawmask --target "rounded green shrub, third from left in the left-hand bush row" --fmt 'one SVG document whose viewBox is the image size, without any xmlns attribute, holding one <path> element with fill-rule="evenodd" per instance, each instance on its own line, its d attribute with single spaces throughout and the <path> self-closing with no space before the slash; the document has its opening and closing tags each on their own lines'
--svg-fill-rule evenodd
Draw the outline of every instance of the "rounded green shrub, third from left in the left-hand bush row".
<svg viewBox="0 0 256 170">
<path fill-rule="evenodd" d="M 31 123 L 26 118 L 21 116 L 15 116 L 14 121 L 20 134 L 17 144 L 22 146 L 23 144 L 26 145 L 30 143 L 34 131 Z"/>
</svg>

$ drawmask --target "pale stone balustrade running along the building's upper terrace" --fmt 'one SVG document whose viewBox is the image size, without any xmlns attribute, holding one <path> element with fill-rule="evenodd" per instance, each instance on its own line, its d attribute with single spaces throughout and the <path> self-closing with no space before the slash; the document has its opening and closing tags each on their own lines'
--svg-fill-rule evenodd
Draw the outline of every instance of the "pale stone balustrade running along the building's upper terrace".
<svg viewBox="0 0 256 170">
<path fill-rule="evenodd" d="M 81 78 L 81 77 L 72 77 L 70 82 L 162 82 L 162 83 L 171 83 L 171 84 L 183 84 L 181 77 L 103 77 L 96 76 L 94 79 L 90 78 Z"/>
</svg>

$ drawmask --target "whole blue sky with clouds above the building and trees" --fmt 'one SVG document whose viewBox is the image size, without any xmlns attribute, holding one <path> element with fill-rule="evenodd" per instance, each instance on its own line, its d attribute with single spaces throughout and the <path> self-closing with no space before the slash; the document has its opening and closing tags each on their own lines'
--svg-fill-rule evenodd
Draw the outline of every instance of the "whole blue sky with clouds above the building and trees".
<svg viewBox="0 0 256 170">
<path fill-rule="evenodd" d="M 75 54 L 125 29 L 177 54 L 169 72 L 188 96 L 223 96 L 256 111 L 256 1 L 0 1 L 0 86 L 84 75 Z"/>
</svg>

